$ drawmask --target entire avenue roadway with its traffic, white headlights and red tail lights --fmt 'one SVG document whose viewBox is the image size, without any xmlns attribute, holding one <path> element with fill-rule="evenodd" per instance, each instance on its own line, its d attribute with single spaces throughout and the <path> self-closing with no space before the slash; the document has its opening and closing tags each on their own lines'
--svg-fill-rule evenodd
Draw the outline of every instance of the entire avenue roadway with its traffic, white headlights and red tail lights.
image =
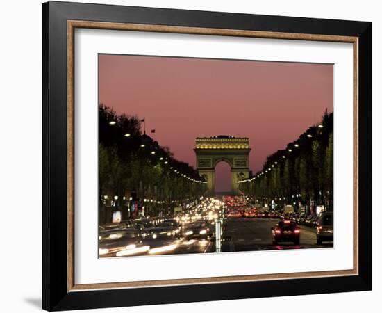
<svg viewBox="0 0 382 313">
<path fill-rule="evenodd" d="M 244 196 L 194 200 L 167 216 L 99 226 L 99 257 L 333 247 L 333 212 L 274 211 Z"/>
</svg>

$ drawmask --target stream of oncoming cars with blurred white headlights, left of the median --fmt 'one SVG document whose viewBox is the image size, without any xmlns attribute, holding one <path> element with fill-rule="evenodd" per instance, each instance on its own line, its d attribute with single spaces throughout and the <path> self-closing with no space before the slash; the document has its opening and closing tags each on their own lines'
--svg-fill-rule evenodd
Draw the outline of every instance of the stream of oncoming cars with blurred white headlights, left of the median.
<svg viewBox="0 0 382 313">
<path fill-rule="evenodd" d="M 201 198 L 194 207 L 173 216 L 121 220 L 99 226 L 101 257 L 154 254 L 174 249 L 181 241 L 207 240 L 222 217 L 222 202 Z"/>
</svg>

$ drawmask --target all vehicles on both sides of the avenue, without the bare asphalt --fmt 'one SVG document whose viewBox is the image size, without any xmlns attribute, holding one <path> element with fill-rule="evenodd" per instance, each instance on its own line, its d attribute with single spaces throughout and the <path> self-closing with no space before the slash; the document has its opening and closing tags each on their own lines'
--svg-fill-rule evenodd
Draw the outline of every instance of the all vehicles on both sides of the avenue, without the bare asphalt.
<svg viewBox="0 0 382 313">
<path fill-rule="evenodd" d="M 317 245 L 333 241 L 333 212 L 323 211 L 318 216 L 297 214 L 286 210 L 282 213 L 267 207 L 255 207 L 244 197 L 201 198 L 185 211 L 160 217 L 143 217 L 121 220 L 99 226 L 99 255 L 101 257 L 156 254 L 174 250 L 182 242 L 205 241 L 215 238 L 215 227 L 227 230 L 230 219 L 274 220 L 271 227 L 272 243 L 300 244 L 300 232 L 315 228 Z M 219 224 L 217 224 L 219 223 Z M 236 223 L 236 222 L 235 222 Z"/>
</svg>

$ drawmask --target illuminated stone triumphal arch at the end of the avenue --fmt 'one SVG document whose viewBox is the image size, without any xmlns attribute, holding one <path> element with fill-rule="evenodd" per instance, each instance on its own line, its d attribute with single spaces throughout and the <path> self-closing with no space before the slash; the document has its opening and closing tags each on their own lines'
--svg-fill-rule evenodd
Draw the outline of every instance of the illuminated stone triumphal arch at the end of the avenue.
<svg viewBox="0 0 382 313">
<path fill-rule="evenodd" d="M 233 136 L 197 137 L 194 148 L 197 170 L 208 182 L 208 193 L 215 191 L 215 166 L 226 162 L 231 167 L 231 193 L 238 194 L 238 182 L 249 177 L 249 138 Z"/>
</svg>

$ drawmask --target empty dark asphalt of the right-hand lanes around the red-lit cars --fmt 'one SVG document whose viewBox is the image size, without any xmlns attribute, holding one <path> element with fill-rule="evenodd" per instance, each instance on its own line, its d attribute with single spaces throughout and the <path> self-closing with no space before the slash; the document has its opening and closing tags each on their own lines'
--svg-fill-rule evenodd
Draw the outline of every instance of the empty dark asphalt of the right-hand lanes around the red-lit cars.
<svg viewBox="0 0 382 313">
<path fill-rule="evenodd" d="M 279 219 L 274 218 L 235 218 L 227 220 L 226 231 L 223 236 L 231 239 L 224 243 L 223 251 L 251 251 L 251 250 L 275 250 L 295 248 L 326 248 L 333 247 L 333 243 L 317 246 L 315 229 L 299 225 L 300 244 L 294 245 L 288 242 L 279 245 L 272 244 L 272 231 Z"/>
</svg>

